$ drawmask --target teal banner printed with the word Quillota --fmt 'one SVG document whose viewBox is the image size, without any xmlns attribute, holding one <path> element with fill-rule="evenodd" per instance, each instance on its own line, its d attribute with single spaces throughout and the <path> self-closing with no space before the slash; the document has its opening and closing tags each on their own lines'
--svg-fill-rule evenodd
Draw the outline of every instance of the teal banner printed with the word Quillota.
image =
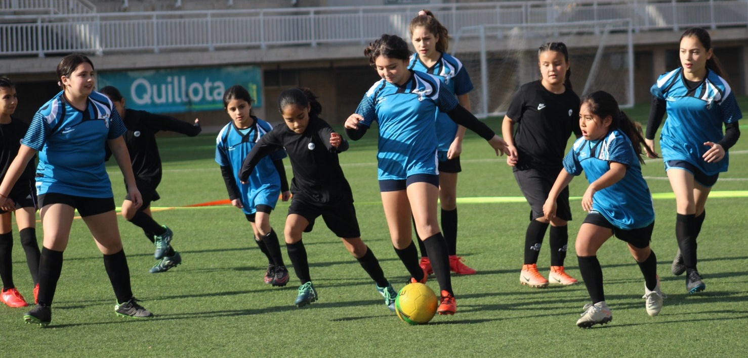
<svg viewBox="0 0 748 358">
<path fill-rule="evenodd" d="M 224 92 L 235 84 L 249 91 L 253 107 L 263 107 L 257 66 L 99 72 L 98 77 L 98 88 L 117 87 L 127 107 L 152 113 L 223 110 Z"/>
</svg>

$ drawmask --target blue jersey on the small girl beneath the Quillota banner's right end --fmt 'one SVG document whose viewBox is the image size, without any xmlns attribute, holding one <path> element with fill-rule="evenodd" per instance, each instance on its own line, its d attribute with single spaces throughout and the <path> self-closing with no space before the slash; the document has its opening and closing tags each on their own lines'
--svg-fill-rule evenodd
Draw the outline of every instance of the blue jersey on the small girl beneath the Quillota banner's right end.
<svg viewBox="0 0 748 358">
<path fill-rule="evenodd" d="M 278 195 L 281 194 L 281 176 L 275 169 L 273 160 L 281 160 L 286 157 L 286 151 L 278 150 L 264 157 L 257 164 L 257 169 L 252 172 L 246 184 L 239 180 L 239 169 L 242 168 L 242 160 L 252 150 L 254 145 L 269 131 L 272 126 L 262 119 L 255 119 L 254 125 L 246 129 L 238 129 L 233 122 L 225 125 L 215 139 L 215 162 L 219 166 L 227 166 L 233 172 L 233 180 L 239 188 L 242 200 L 242 211 L 245 214 L 254 214 L 257 205 L 263 204 L 275 208 L 278 203 Z"/>
</svg>

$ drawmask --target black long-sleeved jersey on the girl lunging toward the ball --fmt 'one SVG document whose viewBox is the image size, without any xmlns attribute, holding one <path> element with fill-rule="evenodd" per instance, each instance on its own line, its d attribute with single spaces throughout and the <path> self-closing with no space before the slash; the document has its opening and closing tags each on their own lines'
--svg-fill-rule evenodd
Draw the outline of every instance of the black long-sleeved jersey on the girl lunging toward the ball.
<svg viewBox="0 0 748 358">
<path fill-rule="evenodd" d="M 337 158 L 338 153 L 348 149 L 348 142 L 343 139 L 340 147 L 334 148 L 330 145 L 332 133 L 330 125 L 315 116 L 309 117 L 309 125 L 302 134 L 296 134 L 285 124 L 277 125 L 247 154 L 239 178 L 247 180 L 260 159 L 278 148 L 286 148 L 293 169 L 294 200 L 331 206 L 352 203 L 351 186 Z"/>
</svg>

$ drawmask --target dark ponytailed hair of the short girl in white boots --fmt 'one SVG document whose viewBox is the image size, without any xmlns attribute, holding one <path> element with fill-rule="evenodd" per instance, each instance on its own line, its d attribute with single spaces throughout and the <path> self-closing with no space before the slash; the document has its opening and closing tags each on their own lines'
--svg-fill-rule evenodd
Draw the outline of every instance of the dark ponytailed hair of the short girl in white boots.
<svg viewBox="0 0 748 358">
<path fill-rule="evenodd" d="M 628 118 L 626 113 L 618 107 L 618 101 L 616 101 L 616 98 L 613 98 L 613 95 L 605 91 L 592 92 L 588 95 L 584 95 L 580 103 L 587 104 L 589 111 L 601 119 L 610 116 L 610 118 L 613 119 L 612 122 L 610 122 L 610 129 L 617 129 L 628 136 L 628 139 L 631 140 L 631 144 L 634 145 L 634 152 L 637 154 L 637 157 L 639 157 L 640 163 L 644 163 L 644 158 L 642 157 L 642 146 L 644 146 L 644 148 L 646 148 L 650 153 L 654 153 L 652 148 L 649 148 L 649 145 L 644 141 L 642 125 L 640 125 L 639 122 L 634 122 Z"/>
</svg>

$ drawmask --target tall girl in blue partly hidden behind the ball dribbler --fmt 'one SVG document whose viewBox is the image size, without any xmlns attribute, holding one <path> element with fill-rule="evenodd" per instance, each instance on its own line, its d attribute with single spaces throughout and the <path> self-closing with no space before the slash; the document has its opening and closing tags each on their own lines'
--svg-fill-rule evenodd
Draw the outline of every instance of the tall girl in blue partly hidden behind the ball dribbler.
<svg viewBox="0 0 748 358">
<path fill-rule="evenodd" d="M 436 75 L 444 81 L 444 87 L 457 96 L 457 101 L 466 110 L 470 110 L 468 92 L 473 90 L 468 71 L 455 57 L 447 54 L 450 38 L 447 28 L 441 25 L 429 10 L 421 10 L 411 20 L 411 43 L 416 54 L 411 55 L 408 69 Z M 460 153 L 465 127 L 457 125 L 447 113 L 438 112 L 436 116 L 436 136 L 438 138 L 439 158 L 439 203 L 441 204 L 441 232 L 447 241 L 450 254 L 450 271 L 457 274 L 475 274 L 462 257 L 457 256 L 457 173 L 462 172 Z M 429 254 L 423 241 L 416 239 L 420 246 L 420 266 L 429 274 L 433 272 Z"/>
</svg>

